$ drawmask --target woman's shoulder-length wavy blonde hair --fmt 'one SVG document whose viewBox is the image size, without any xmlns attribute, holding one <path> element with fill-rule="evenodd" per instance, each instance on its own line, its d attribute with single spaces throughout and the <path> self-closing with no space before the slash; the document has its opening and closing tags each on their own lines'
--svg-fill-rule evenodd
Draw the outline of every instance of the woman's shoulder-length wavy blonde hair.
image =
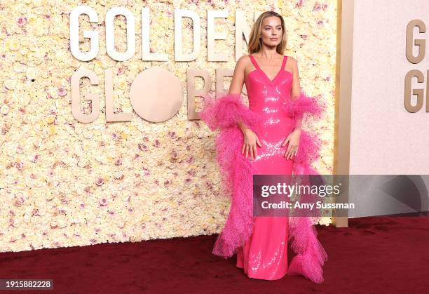
<svg viewBox="0 0 429 294">
<path fill-rule="evenodd" d="M 261 27 L 262 27 L 262 20 L 265 18 L 269 18 L 271 16 L 276 16 L 280 18 L 280 22 L 282 25 L 282 40 L 280 41 L 280 44 L 278 44 L 275 51 L 277 51 L 279 54 L 284 55 L 284 51 L 286 48 L 286 29 L 285 29 L 285 20 L 283 20 L 282 15 L 276 13 L 275 11 L 265 11 L 264 13 L 261 13 L 259 15 L 259 18 L 257 18 L 256 22 L 254 22 L 254 25 L 252 27 L 252 30 L 250 31 L 250 39 L 249 44 L 247 45 L 247 52 L 249 54 L 258 52 L 261 50 L 262 47 L 262 41 L 261 41 Z"/>
</svg>

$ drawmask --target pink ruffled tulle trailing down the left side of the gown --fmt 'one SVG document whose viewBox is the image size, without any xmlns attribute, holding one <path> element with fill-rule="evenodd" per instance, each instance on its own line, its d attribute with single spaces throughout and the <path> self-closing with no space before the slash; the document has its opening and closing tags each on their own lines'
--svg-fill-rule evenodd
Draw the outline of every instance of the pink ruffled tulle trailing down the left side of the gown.
<svg viewBox="0 0 429 294">
<path fill-rule="evenodd" d="M 216 239 L 212 253 L 229 258 L 252 234 L 254 168 L 250 159 L 241 154 L 244 135 L 238 123 L 242 122 L 259 133 L 261 117 L 252 112 L 238 94 L 221 93 L 214 99 L 203 95 L 205 106 L 199 113 L 210 130 L 219 129 L 215 139 L 216 159 L 222 175 L 224 192 L 231 199 L 228 218 Z"/>
</svg>

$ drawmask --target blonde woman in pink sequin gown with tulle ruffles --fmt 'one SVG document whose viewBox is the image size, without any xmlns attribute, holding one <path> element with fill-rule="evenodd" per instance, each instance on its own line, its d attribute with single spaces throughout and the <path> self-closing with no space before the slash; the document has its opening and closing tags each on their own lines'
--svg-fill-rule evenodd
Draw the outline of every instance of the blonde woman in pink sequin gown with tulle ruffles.
<svg viewBox="0 0 429 294">
<path fill-rule="evenodd" d="M 234 69 L 229 93 L 213 100 L 205 96 L 200 118 L 216 139 L 217 161 L 223 184 L 231 195 L 226 225 L 213 254 L 229 258 L 254 279 L 275 280 L 302 274 L 323 281 L 327 253 L 308 217 L 254 217 L 252 175 L 314 175 L 311 162 L 318 158 L 318 138 L 301 130 L 304 113 L 320 116 L 317 100 L 301 93 L 297 60 L 284 56 L 285 23 L 273 11 L 262 13 L 252 27 L 249 55 Z M 249 107 L 241 102 L 246 85 Z M 296 256 L 287 265 L 287 241 Z"/>
</svg>

